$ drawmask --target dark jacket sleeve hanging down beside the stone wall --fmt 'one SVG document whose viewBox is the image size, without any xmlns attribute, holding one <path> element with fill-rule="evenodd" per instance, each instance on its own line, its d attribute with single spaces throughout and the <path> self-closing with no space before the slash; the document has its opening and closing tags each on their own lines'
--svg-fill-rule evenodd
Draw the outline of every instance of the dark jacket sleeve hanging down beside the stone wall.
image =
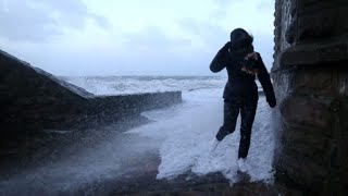
<svg viewBox="0 0 348 196">
<path fill-rule="evenodd" d="M 263 91 L 265 94 L 266 101 L 269 102 L 271 108 L 274 108 L 276 106 L 276 99 L 273 90 L 273 85 L 271 83 L 270 74 L 268 70 L 264 66 L 264 63 L 262 61 L 261 56 L 259 54 L 259 66 L 260 72 L 258 74 L 258 78 L 261 83 L 261 86 L 263 88 Z"/>
</svg>

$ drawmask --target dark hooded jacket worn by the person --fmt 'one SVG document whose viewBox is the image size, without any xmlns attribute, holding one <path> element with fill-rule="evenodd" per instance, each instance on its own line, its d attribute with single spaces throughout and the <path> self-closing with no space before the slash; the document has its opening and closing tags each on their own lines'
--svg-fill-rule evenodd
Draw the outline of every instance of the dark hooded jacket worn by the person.
<svg viewBox="0 0 348 196">
<path fill-rule="evenodd" d="M 231 41 L 219 50 L 210 64 L 210 70 L 214 73 L 226 68 L 228 81 L 225 85 L 223 98 L 231 99 L 233 97 L 258 98 L 258 86 L 256 76 L 241 71 L 245 57 L 253 52 L 252 37 L 241 28 L 237 28 L 231 33 Z M 275 107 L 276 100 L 270 74 L 264 66 L 261 56 L 258 53 L 257 65 L 259 68 L 258 78 L 266 96 L 270 107 Z"/>
</svg>

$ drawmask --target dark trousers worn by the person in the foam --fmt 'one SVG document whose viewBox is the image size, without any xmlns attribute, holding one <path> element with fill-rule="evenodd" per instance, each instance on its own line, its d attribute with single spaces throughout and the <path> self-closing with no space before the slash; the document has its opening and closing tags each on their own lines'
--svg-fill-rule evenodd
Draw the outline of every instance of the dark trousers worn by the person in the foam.
<svg viewBox="0 0 348 196">
<path fill-rule="evenodd" d="M 233 97 L 224 101 L 224 124 L 220 127 L 216 139 L 222 140 L 226 135 L 235 131 L 237 118 L 240 112 L 241 122 L 238 158 L 246 158 L 248 156 L 257 106 L 258 96 Z"/>
</svg>

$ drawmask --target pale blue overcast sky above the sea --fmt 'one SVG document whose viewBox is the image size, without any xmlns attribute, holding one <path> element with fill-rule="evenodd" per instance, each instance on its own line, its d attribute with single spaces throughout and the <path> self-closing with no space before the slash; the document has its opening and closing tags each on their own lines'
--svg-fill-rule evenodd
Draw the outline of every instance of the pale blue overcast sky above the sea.
<svg viewBox="0 0 348 196">
<path fill-rule="evenodd" d="M 270 70 L 274 0 L 0 0 L 0 49 L 55 75 L 212 75 L 243 27 Z"/>
</svg>

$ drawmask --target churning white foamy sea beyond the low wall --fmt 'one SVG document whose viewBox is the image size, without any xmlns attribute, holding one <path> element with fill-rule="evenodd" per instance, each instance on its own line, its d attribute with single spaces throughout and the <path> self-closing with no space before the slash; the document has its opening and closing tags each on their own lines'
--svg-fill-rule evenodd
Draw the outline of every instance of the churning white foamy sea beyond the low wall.
<svg viewBox="0 0 348 196">
<path fill-rule="evenodd" d="M 211 76 L 110 76 L 62 78 L 96 95 L 139 94 L 173 90 L 189 91 L 197 89 L 221 88 L 226 83 L 226 78 Z"/>
</svg>

